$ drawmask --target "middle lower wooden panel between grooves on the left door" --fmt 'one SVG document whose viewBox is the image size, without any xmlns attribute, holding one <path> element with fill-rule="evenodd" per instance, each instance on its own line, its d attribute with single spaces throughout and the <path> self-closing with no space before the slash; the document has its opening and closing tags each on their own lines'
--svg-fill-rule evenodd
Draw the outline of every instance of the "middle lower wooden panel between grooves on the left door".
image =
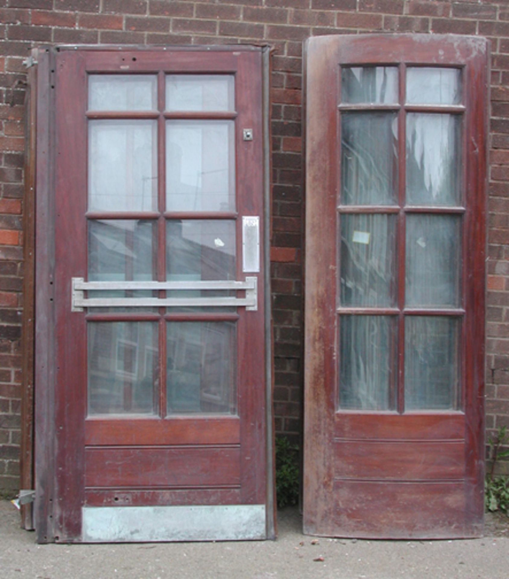
<svg viewBox="0 0 509 579">
<path fill-rule="evenodd" d="M 85 450 L 85 486 L 215 486 L 240 482 L 240 448 L 109 447 Z"/>
</svg>

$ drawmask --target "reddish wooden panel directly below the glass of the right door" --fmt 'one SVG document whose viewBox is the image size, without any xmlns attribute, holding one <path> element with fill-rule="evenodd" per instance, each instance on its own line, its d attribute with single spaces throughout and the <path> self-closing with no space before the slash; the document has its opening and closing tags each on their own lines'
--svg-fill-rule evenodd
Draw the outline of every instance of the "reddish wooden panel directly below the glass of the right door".
<svg viewBox="0 0 509 579">
<path fill-rule="evenodd" d="M 336 438 L 457 439 L 465 435 L 463 413 L 336 413 Z"/>
</svg>

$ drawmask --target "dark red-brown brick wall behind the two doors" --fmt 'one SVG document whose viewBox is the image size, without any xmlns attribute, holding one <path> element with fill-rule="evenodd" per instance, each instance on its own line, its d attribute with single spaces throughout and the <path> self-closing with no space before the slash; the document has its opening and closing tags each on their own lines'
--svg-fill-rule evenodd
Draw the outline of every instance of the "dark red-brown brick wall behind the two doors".
<svg viewBox="0 0 509 579">
<path fill-rule="evenodd" d="M 487 404 L 509 426 L 509 5 L 507 0 L 0 0 L 0 489 L 17 488 L 25 69 L 36 43 L 267 42 L 272 75 L 276 430 L 298 438 L 302 391 L 302 41 L 363 32 L 492 41 Z M 507 247 L 506 247 L 507 245 Z"/>
</svg>

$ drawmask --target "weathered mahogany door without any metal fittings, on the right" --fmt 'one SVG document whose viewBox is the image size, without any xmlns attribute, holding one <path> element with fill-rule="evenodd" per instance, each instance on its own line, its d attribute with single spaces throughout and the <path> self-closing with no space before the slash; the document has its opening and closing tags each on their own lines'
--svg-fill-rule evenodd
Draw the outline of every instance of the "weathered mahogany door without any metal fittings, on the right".
<svg viewBox="0 0 509 579">
<path fill-rule="evenodd" d="M 307 42 L 306 533 L 482 533 L 488 53 Z"/>
</svg>

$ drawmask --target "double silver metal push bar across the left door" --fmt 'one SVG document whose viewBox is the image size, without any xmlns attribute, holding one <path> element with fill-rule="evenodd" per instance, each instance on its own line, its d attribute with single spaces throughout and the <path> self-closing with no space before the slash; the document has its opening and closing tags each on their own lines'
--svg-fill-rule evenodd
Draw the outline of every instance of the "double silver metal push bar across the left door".
<svg viewBox="0 0 509 579">
<path fill-rule="evenodd" d="M 178 307 L 178 306 L 224 306 L 246 307 L 250 312 L 258 309 L 258 278 L 246 277 L 246 281 L 85 281 L 73 277 L 71 288 L 71 312 L 83 312 L 85 307 Z M 185 297 L 185 298 L 107 298 L 85 297 L 85 291 L 206 291 L 245 290 L 245 298 Z"/>
</svg>

